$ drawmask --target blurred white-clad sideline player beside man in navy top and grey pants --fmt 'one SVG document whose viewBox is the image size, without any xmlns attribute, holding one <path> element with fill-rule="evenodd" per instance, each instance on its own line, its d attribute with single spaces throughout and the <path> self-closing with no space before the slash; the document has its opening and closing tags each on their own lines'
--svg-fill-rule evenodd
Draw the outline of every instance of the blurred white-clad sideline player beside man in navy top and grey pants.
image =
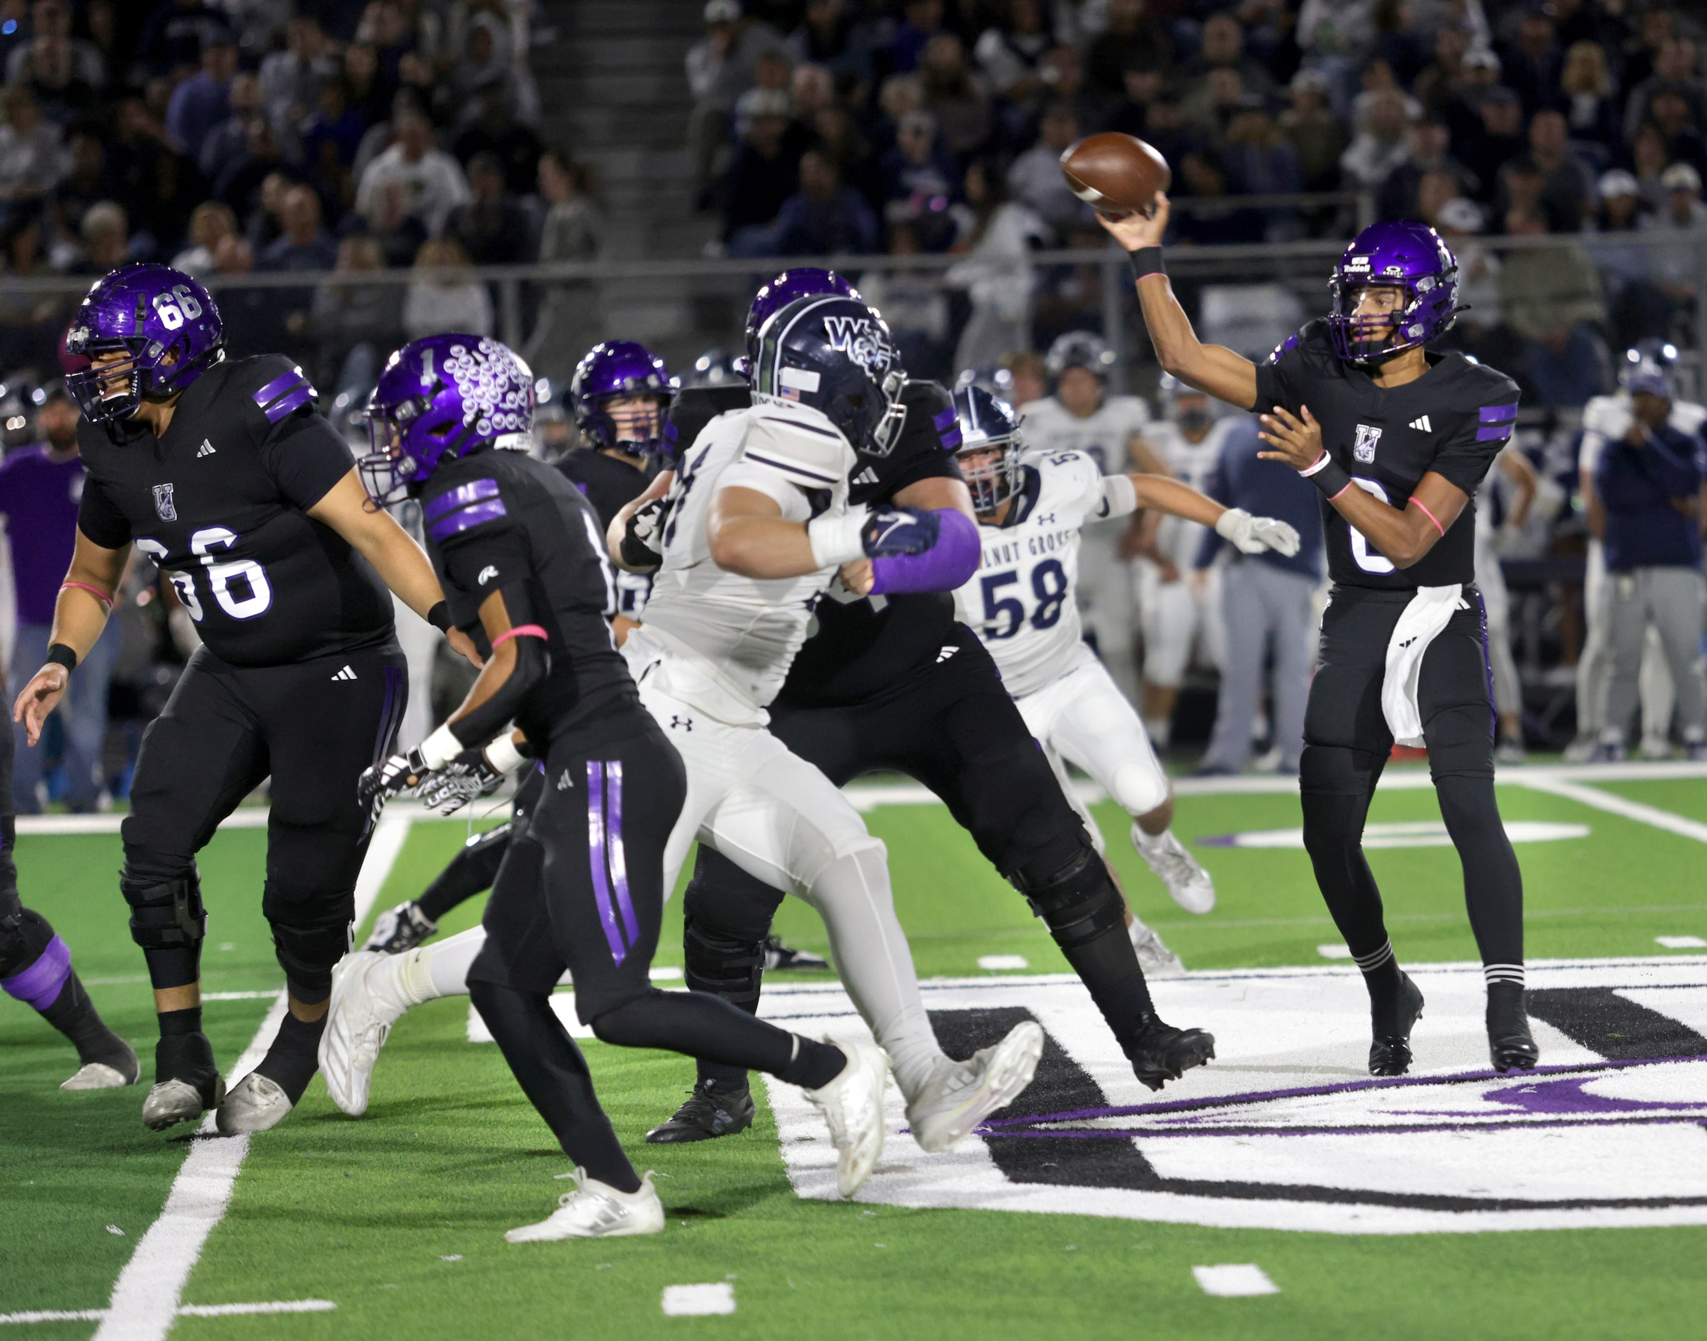
<svg viewBox="0 0 1707 1341">
<path fill-rule="evenodd" d="M 1176 479 L 1198 493 L 1221 461 L 1221 447 L 1239 418 L 1219 420 L 1197 387 L 1162 374 L 1159 420 L 1144 430 L 1144 442 Z M 1173 735 L 1173 710 L 1191 652 L 1217 670 L 1226 662 L 1227 640 L 1221 626 L 1221 568 L 1193 568 L 1203 527 L 1185 517 L 1161 517 L 1156 534 L 1139 556 L 1139 623 L 1144 630 L 1144 727 L 1161 749 Z"/>
</svg>

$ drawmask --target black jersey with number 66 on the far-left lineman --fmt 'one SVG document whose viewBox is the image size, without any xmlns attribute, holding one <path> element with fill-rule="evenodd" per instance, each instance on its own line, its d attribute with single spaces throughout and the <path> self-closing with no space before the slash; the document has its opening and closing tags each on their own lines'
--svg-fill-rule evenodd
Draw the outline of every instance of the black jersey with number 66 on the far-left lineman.
<svg viewBox="0 0 1707 1341">
<path fill-rule="evenodd" d="M 77 427 L 79 529 L 159 563 L 208 652 L 232 665 L 394 647 L 386 585 L 307 515 L 353 467 L 312 398 L 288 358 L 236 358 L 191 382 L 160 438 L 114 445 L 102 427 Z"/>
</svg>

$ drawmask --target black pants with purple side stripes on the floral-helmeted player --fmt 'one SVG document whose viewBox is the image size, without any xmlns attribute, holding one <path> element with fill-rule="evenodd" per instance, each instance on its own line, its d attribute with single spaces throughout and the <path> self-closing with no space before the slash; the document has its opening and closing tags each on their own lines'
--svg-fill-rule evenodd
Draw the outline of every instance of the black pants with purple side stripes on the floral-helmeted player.
<svg viewBox="0 0 1707 1341">
<path fill-rule="evenodd" d="M 659 991 L 649 969 L 664 918 L 664 845 L 688 783 L 681 756 L 650 717 L 632 735 L 587 747 L 553 740 L 527 833 L 510 843 L 486 901 L 486 943 L 468 995 L 563 1153 L 623 1191 L 640 1186 L 587 1063 L 551 1013 L 568 969 L 575 1013 L 604 1042 L 666 1048 L 758 1068 L 816 1088 L 843 1056 L 754 1020 L 717 996 Z"/>
</svg>

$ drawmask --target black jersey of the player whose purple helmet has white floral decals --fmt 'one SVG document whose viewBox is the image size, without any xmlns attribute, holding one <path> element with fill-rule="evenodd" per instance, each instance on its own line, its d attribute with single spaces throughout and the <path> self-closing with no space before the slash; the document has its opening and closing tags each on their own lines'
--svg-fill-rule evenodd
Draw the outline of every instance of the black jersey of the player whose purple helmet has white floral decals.
<svg viewBox="0 0 1707 1341">
<path fill-rule="evenodd" d="M 644 710 L 604 623 L 616 611 L 616 580 L 604 527 L 580 490 L 526 452 L 488 449 L 434 471 L 420 502 L 456 624 L 476 626 L 492 592 L 521 587 L 526 611 L 512 618 L 546 631 L 551 674 L 516 713 L 527 739 L 630 734 L 637 717 L 623 710 Z"/>
</svg>

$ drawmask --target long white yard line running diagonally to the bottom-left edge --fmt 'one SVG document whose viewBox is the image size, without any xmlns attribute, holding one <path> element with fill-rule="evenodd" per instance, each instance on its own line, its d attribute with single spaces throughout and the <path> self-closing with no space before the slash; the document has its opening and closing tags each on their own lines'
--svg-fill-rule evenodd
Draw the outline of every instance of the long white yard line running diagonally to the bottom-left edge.
<svg viewBox="0 0 1707 1341">
<path fill-rule="evenodd" d="M 355 882 L 357 925 L 379 897 L 398 853 L 403 851 L 408 833 L 410 816 L 406 814 L 387 814 L 374 831 L 367 860 Z M 229 1075 L 237 1077 L 254 1070 L 266 1054 L 273 1034 L 278 1032 L 278 1022 L 283 1015 L 285 996 L 280 995 Z M 101 1321 L 96 1341 L 162 1341 L 172 1329 L 172 1322 L 181 1312 L 179 1298 L 184 1281 L 189 1280 L 189 1271 L 201 1256 L 201 1247 L 213 1227 L 225 1216 L 232 1186 L 237 1182 L 237 1170 L 242 1169 L 242 1157 L 249 1153 L 248 1136 L 205 1140 L 213 1131 L 213 1114 L 210 1112 L 198 1133 L 203 1140 L 191 1143 L 189 1153 L 172 1181 L 166 1206 L 160 1210 L 160 1218 L 137 1242 L 137 1251 L 113 1285 L 113 1302 Z"/>
</svg>

